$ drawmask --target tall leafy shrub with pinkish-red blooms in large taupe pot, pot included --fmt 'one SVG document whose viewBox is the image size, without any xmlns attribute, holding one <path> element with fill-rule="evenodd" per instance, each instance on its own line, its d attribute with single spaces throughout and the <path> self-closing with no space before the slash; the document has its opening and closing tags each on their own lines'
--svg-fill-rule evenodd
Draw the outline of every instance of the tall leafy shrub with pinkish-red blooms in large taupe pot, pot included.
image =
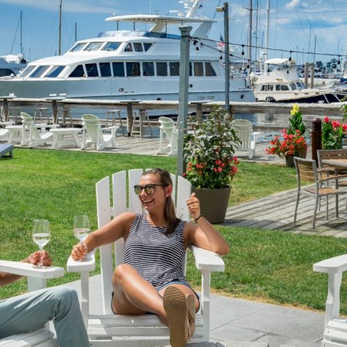
<svg viewBox="0 0 347 347">
<path fill-rule="evenodd" d="M 230 115 L 218 105 L 202 123 L 190 118 L 193 133 L 185 137 L 185 178 L 201 203 L 201 212 L 210 223 L 226 216 L 231 182 L 237 173 L 235 146 L 240 144 Z M 215 199 L 215 200 L 214 200 Z"/>
</svg>

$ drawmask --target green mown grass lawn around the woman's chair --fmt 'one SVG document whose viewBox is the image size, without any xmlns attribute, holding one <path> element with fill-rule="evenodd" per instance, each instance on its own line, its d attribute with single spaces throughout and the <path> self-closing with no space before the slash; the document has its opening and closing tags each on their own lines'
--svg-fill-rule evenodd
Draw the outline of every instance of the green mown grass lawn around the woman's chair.
<svg viewBox="0 0 347 347">
<path fill-rule="evenodd" d="M 1 159 L 0 167 L 1 259 L 21 260 L 35 251 L 33 219 L 44 218 L 49 219 L 52 233 L 46 249 L 54 264 L 65 267 L 76 243 L 71 231 L 74 214 L 88 214 L 92 228 L 96 228 L 96 181 L 133 168 L 164 167 L 176 172 L 176 158 L 16 149 L 15 158 Z M 294 169 L 241 162 L 230 205 L 294 187 Z M 323 310 L 327 278 L 314 273 L 312 264 L 346 253 L 346 240 L 255 228 L 218 228 L 230 244 L 230 254 L 224 257 L 226 271 L 213 274 L 214 289 L 232 296 Z M 190 258 L 187 277 L 198 287 L 199 275 Z M 66 273 L 49 285 L 77 278 Z M 343 285 L 346 287 L 346 282 Z M 19 280 L 1 287 L 0 298 L 25 290 L 26 281 Z M 341 302 L 345 296 L 347 291 L 342 290 Z M 346 306 L 343 310 L 347 313 Z"/>
</svg>

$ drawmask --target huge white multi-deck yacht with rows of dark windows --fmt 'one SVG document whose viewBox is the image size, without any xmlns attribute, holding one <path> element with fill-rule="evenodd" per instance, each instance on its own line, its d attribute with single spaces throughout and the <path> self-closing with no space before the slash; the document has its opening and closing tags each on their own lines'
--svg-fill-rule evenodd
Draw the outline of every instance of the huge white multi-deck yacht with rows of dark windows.
<svg viewBox="0 0 347 347">
<path fill-rule="evenodd" d="M 0 80 L 0 94 L 43 98 L 177 100 L 180 35 L 167 29 L 195 25 L 192 36 L 208 38 L 216 21 L 197 17 L 201 0 L 180 1 L 185 10 L 171 15 L 123 15 L 107 22 L 147 24 L 149 31 L 105 31 L 80 40 L 62 56 L 35 60 L 19 76 Z M 202 41 L 204 42 L 204 41 Z M 210 44 L 210 42 L 206 42 Z M 223 101 L 224 70 L 220 53 L 198 44 L 190 47 L 189 99 Z M 255 101 L 246 78 L 230 80 L 230 101 Z"/>
</svg>

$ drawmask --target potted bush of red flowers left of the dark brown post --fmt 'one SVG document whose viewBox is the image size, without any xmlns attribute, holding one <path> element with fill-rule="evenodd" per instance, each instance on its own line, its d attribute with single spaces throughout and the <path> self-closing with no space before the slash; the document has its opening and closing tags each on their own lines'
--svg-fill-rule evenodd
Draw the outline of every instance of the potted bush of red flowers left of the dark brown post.
<svg viewBox="0 0 347 347">
<path fill-rule="evenodd" d="M 305 137 L 300 130 L 295 130 L 294 134 L 288 134 L 287 129 L 282 130 L 283 139 L 277 135 L 271 140 L 271 146 L 266 149 L 266 153 L 278 155 L 285 158 L 287 167 L 294 167 L 294 156 L 302 156 L 307 152 Z"/>
</svg>

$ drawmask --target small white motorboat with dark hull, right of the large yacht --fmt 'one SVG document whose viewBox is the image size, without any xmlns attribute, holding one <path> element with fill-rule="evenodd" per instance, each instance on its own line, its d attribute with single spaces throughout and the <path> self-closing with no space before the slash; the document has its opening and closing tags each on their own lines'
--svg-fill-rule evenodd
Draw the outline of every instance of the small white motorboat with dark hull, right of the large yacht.
<svg viewBox="0 0 347 347">
<path fill-rule="evenodd" d="M 294 60 L 273 58 L 265 61 L 267 71 L 255 78 L 254 93 L 257 101 L 281 103 L 332 103 L 343 95 L 332 87 L 307 88 L 294 68 Z"/>
</svg>

